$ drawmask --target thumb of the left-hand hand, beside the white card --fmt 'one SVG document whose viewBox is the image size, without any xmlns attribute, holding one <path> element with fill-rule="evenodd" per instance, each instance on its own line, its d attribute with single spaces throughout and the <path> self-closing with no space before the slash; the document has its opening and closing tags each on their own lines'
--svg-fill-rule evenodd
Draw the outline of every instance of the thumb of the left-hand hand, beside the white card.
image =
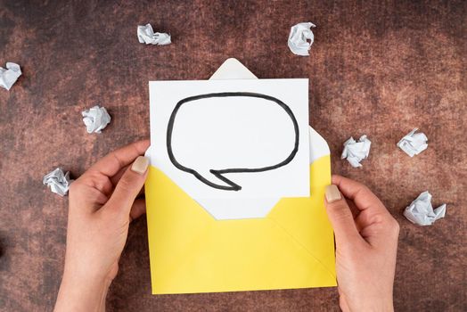
<svg viewBox="0 0 467 312">
<path fill-rule="evenodd" d="M 120 177 L 119 183 L 115 186 L 111 199 L 107 201 L 106 205 L 110 209 L 121 210 L 121 212 L 129 216 L 136 196 L 138 196 L 146 180 L 148 166 L 149 160 L 139 156 L 133 162 L 133 165 L 127 168 L 127 171 Z"/>
</svg>

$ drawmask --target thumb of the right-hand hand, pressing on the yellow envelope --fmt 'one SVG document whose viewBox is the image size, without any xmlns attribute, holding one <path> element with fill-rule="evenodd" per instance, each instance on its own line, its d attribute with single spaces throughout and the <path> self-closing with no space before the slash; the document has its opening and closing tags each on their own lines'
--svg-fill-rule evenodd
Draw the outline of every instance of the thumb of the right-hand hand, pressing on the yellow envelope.
<svg viewBox="0 0 467 312">
<path fill-rule="evenodd" d="M 340 194 L 339 188 L 336 185 L 328 185 L 325 196 L 324 205 L 334 229 L 336 244 L 345 246 L 348 245 L 348 242 L 361 240 L 362 237 L 356 230 L 352 211 L 350 211 L 345 198 Z"/>
</svg>

